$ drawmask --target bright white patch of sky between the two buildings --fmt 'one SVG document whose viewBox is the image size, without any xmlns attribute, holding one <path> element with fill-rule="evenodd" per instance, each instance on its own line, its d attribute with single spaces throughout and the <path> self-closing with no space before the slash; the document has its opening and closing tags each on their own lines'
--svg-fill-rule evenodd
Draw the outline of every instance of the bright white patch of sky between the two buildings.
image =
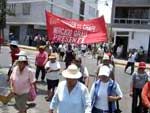
<svg viewBox="0 0 150 113">
<path fill-rule="evenodd" d="M 106 5 L 106 2 L 108 5 Z M 99 16 L 104 15 L 105 22 L 111 23 L 112 0 L 98 0 Z"/>
</svg>

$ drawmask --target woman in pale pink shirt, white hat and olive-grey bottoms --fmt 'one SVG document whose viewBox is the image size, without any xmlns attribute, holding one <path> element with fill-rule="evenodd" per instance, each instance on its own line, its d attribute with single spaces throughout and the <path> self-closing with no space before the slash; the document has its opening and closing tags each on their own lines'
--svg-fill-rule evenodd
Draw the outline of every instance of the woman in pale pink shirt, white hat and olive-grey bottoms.
<svg viewBox="0 0 150 113">
<path fill-rule="evenodd" d="M 26 102 L 31 87 L 35 88 L 35 75 L 28 66 L 27 56 L 19 56 L 17 66 L 10 76 L 12 92 L 15 94 L 16 107 L 19 113 L 27 113 Z"/>
</svg>

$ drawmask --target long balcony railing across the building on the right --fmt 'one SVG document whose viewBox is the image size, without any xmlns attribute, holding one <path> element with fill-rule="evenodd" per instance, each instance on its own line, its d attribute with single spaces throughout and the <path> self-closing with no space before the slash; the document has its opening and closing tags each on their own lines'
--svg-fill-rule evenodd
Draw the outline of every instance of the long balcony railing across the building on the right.
<svg viewBox="0 0 150 113">
<path fill-rule="evenodd" d="M 114 18 L 115 24 L 150 25 L 150 19 Z"/>
</svg>

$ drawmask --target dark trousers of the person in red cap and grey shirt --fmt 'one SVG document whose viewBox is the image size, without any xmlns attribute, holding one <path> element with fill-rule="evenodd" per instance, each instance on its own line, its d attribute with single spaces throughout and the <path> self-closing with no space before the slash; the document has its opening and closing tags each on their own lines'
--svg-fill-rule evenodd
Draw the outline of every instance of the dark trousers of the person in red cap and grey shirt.
<svg viewBox="0 0 150 113">
<path fill-rule="evenodd" d="M 132 113 L 147 113 L 147 109 L 142 106 L 141 92 L 142 89 L 138 88 L 133 89 Z"/>
</svg>

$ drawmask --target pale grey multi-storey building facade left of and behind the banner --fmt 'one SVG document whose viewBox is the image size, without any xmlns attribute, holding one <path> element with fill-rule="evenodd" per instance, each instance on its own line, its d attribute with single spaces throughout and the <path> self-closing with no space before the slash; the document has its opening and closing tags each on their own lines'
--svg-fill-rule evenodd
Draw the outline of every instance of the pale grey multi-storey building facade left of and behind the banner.
<svg viewBox="0 0 150 113">
<path fill-rule="evenodd" d="M 45 10 L 56 15 L 86 20 L 97 17 L 97 0 L 8 0 L 7 9 L 14 15 L 7 16 L 5 38 L 13 33 L 24 44 L 27 35 L 46 34 Z"/>
</svg>

